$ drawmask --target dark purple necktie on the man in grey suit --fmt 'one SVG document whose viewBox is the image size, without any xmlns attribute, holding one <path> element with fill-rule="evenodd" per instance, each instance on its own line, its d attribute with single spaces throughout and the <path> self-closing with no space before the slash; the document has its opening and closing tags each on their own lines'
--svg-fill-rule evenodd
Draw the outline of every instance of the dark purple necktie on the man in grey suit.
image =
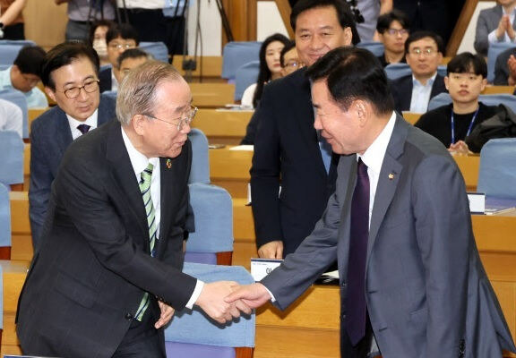
<svg viewBox="0 0 516 358">
<path fill-rule="evenodd" d="M 351 201 L 351 227 L 346 294 L 346 330 L 352 345 L 366 334 L 366 257 L 369 237 L 369 176 L 358 159 L 357 184 Z"/>
</svg>

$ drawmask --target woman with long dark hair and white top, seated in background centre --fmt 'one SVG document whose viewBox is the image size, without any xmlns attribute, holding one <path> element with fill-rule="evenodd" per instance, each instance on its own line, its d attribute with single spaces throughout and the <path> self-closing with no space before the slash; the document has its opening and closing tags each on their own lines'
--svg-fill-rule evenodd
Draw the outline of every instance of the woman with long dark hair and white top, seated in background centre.
<svg viewBox="0 0 516 358">
<path fill-rule="evenodd" d="M 260 72 L 256 83 L 247 87 L 242 95 L 242 106 L 256 107 L 262 98 L 263 86 L 281 77 L 280 52 L 289 39 L 279 33 L 271 35 L 260 47 Z"/>
</svg>

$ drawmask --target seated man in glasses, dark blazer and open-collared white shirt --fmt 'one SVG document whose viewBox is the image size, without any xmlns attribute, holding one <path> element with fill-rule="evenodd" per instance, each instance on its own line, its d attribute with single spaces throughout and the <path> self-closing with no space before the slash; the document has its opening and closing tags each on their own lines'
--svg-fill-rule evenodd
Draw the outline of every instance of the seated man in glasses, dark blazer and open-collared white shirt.
<svg viewBox="0 0 516 358">
<path fill-rule="evenodd" d="M 443 60 L 443 40 L 430 31 L 417 31 L 407 38 L 405 53 L 412 74 L 391 81 L 396 110 L 425 113 L 430 98 L 445 92 L 437 67 Z"/>
</svg>

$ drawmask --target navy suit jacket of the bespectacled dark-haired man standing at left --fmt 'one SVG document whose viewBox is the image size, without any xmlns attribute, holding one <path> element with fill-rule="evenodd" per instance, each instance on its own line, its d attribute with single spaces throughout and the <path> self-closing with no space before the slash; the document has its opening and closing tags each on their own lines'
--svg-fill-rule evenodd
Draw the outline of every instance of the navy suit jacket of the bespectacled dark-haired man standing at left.
<svg viewBox="0 0 516 358">
<path fill-rule="evenodd" d="M 116 117 L 116 101 L 100 96 L 98 125 Z M 32 243 L 36 248 L 47 213 L 50 187 L 57 174 L 64 150 L 72 143 L 66 114 L 54 107 L 39 115 L 30 127 L 29 214 Z"/>
</svg>

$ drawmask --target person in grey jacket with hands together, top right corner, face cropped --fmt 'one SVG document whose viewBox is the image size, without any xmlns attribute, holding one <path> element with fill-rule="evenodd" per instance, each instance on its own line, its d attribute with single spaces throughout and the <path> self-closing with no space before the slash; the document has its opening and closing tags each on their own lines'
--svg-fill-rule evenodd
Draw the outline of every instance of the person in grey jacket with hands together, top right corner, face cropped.
<svg viewBox="0 0 516 358">
<path fill-rule="evenodd" d="M 480 11 L 474 44 L 478 54 L 486 56 L 489 44 L 516 41 L 515 7 L 516 0 L 497 0 L 495 7 Z"/>
</svg>

